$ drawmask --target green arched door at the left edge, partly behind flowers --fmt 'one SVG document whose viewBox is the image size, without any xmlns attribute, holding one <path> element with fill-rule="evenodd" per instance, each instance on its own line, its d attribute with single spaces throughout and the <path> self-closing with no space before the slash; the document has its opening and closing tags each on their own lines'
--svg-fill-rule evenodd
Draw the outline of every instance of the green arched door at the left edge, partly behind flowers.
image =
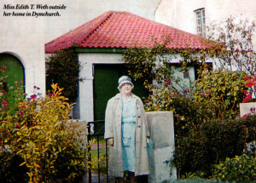
<svg viewBox="0 0 256 183">
<path fill-rule="evenodd" d="M 16 86 L 24 86 L 24 67 L 20 60 L 12 54 L 0 54 L 0 67 L 2 68 L 3 66 L 5 67 L 5 76 L 7 76 L 6 83 L 3 84 L 6 85 L 5 90 L 14 102 L 13 92 Z M 24 89 L 21 92 L 23 93 Z"/>
</svg>

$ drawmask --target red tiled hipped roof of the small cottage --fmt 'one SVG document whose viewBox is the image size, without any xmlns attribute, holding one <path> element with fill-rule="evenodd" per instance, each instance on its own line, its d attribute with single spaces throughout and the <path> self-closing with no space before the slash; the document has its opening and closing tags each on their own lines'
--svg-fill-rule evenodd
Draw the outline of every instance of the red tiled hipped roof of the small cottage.
<svg viewBox="0 0 256 183">
<path fill-rule="evenodd" d="M 206 49 L 202 37 L 127 12 L 108 11 L 45 44 L 45 53 L 79 48 L 152 48 L 169 36 L 172 49 Z"/>
</svg>

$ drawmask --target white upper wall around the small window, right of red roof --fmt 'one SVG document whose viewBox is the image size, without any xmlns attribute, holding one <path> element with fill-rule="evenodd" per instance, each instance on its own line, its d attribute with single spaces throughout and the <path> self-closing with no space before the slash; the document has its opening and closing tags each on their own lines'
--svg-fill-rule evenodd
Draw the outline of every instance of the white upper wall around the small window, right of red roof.
<svg viewBox="0 0 256 183">
<path fill-rule="evenodd" d="M 205 8 L 206 24 L 224 21 L 232 15 L 239 20 L 256 20 L 254 0 L 162 0 L 155 12 L 155 20 L 195 34 L 195 10 Z M 256 45 L 256 36 L 253 39 Z"/>
</svg>

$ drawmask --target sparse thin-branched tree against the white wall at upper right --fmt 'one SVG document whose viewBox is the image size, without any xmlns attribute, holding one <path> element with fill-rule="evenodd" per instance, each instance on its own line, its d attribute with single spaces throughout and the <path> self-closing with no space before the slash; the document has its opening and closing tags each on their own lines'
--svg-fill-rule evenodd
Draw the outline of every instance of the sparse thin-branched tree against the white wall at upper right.
<svg viewBox="0 0 256 183">
<path fill-rule="evenodd" d="M 214 42 L 212 48 L 201 55 L 216 58 L 224 69 L 245 71 L 249 76 L 256 74 L 256 53 L 252 42 L 254 22 L 236 20 L 231 16 L 224 22 L 213 22 L 207 30 L 207 39 Z"/>
</svg>

